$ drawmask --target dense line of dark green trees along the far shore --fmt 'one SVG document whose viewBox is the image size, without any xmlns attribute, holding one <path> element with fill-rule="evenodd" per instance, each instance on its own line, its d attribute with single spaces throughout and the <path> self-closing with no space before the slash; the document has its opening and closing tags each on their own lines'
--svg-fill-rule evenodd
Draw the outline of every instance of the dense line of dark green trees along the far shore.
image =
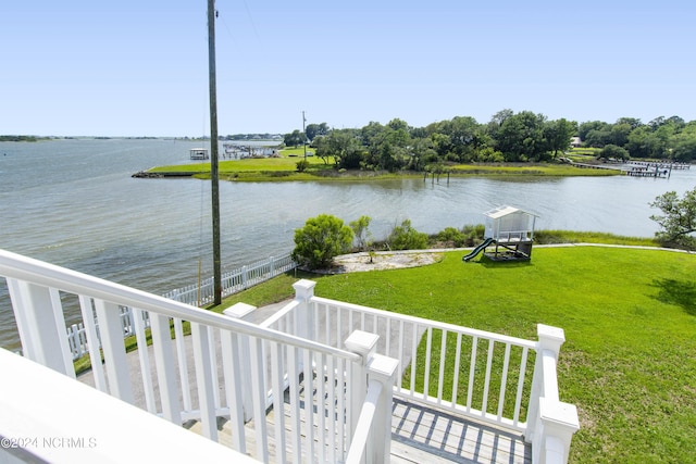
<svg viewBox="0 0 696 464">
<path fill-rule="evenodd" d="M 600 148 L 602 158 L 689 162 L 696 159 L 696 121 L 658 117 L 647 124 L 622 117 L 614 124 L 549 120 L 531 111 L 502 110 L 489 122 L 471 116 L 413 127 L 394 118 L 362 128 L 309 124 L 286 134 L 286 146 L 309 143 L 326 164 L 346 170 L 425 171 L 447 163 L 547 162 L 568 150 L 573 137 Z"/>
</svg>

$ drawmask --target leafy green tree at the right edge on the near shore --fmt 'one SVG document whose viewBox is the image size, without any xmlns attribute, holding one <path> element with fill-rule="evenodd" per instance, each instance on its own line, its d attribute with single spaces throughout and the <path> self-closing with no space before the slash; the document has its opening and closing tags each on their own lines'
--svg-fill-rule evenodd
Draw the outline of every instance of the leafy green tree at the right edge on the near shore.
<svg viewBox="0 0 696 464">
<path fill-rule="evenodd" d="M 650 203 L 659 208 L 662 215 L 652 215 L 661 230 L 655 236 L 664 243 L 673 243 L 687 250 L 696 249 L 696 188 L 679 198 L 675 191 L 668 191 Z"/>
</svg>

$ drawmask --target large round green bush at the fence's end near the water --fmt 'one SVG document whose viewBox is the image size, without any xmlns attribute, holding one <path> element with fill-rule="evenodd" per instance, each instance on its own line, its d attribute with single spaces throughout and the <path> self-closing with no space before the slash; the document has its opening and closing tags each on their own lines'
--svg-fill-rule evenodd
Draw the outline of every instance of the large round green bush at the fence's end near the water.
<svg viewBox="0 0 696 464">
<path fill-rule="evenodd" d="M 334 256 L 344 253 L 352 244 L 352 230 L 344 222 L 330 214 L 310 217 L 304 227 L 295 229 L 293 259 L 310 269 L 327 267 Z"/>
</svg>

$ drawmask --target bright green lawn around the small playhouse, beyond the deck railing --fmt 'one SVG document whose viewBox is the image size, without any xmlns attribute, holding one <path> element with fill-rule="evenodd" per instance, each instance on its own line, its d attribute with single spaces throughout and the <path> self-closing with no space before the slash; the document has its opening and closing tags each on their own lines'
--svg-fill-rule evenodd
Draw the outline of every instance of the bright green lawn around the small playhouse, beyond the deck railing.
<svg viewBox="0 0 696 464">
<path fill-rule="evenodd" d="M 536 338 L 566 330 L 561 400 L 579 409 L 572 463 L 694 462 L 696 255 L 599 247 L 536 248 L 531 263 L 463 263 L 309 276 L 316 294 Z M 282 276 L 226 302 L 291 294 Z M 308 276 L 303 276 L 308 277 Z"/>
</svg>

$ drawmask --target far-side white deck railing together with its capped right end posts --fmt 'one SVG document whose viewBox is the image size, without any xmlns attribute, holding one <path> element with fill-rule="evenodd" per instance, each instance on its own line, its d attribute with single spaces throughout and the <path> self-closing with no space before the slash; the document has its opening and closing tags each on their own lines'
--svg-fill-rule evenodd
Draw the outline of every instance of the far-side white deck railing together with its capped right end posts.
<svg viewBox="0 0 696 464">
<path fill-rule="evenodd" d="M 333 347 L 353 330 L 376 334 L 376 353 L 401 366 L 395 396 L 523 432 L 535 463 L 568 461 L 579 423 L 558 399 L 562 329 L 539 325 L 530 341 L 315 297 L 309 280 L 295 288 L 310 304 L 289 304 L 265 326 Z"/>
</svg>

